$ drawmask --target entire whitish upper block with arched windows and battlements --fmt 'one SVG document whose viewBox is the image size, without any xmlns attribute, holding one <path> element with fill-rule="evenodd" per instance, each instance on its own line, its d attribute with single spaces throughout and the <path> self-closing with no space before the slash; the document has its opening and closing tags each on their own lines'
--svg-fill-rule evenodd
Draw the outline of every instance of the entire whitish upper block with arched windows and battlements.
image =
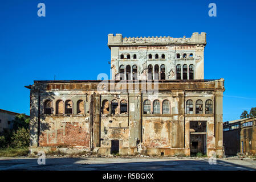
<svg viewBox="0 0 256 182">
<path fill-rule="evenodd" d="M 204 79 L 205 45 L 205 32 L 195 32 L 191 38 L 109 34 L 112 80 Z"/>
</svg>

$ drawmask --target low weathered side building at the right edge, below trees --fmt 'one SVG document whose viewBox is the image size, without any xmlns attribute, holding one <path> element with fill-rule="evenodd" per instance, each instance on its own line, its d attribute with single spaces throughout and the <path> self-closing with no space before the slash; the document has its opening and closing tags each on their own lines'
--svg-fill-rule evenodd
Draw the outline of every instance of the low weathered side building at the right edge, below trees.
<svg viewBox="0 0 256 182">
<path fill-rule="evenodd" d="M 227 121 L 223 124 L 225 155 L 254 155 L 256 151 L 256 117 Z"/>
</svg>

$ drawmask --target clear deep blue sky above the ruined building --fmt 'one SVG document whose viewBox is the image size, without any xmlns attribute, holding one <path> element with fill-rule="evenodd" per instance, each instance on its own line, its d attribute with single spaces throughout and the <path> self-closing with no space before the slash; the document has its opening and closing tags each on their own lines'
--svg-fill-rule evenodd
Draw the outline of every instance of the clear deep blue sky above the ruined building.
<svg viewBox="0 0 256 182">
<path fill-rule="evenodd" d="M 37 16 L 38 3 L 46 16 Z M 217 17 L 208 15 L 209 3 Z M 224 121 L 256 107 L 256 1 L 1 1 L 0 109 L 29 114 L 34 80 L 109 75 L 107 35 L 206 32 L 205 79 L 224 78 Z"/>
</svg>

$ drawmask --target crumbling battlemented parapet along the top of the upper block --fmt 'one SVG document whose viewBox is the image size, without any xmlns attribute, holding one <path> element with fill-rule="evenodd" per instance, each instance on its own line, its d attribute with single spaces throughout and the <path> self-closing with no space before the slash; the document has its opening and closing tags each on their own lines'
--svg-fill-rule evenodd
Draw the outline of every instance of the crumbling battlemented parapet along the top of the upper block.
<svg viewBox="0 0 256 182">
<path fill-rule="evenodd" d="M 136 37 L 123 38 L 122 34 L 108 34 L 108 46 L 148 46 L 148 45 L 187 45 L 187 44 L 206 44 L 206 33 L 194 32 L 191 38 L 172 38 L 170 36 L 160 37 Z"/>
</svg>

